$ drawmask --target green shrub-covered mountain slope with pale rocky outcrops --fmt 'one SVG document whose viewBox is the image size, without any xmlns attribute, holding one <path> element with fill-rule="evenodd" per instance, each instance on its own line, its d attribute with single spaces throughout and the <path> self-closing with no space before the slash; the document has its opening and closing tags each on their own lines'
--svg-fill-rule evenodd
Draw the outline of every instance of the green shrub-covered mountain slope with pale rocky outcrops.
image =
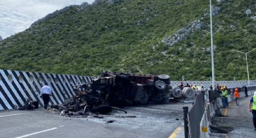
<svg viewBox="0 0 256 138">
<path fill-rule="evenodd" d="M 210 80 L 209 3 L 203 0 L 96 0 L 70 5 L 0 41 L 0 68 L 99 75 L 101 71 L 169 74 Z M 216 80 L 246 80 L 254 49 L 256 3 L 213 1 Z M 256 80 L 256 50 L 248 54 Z"/>
</svg>

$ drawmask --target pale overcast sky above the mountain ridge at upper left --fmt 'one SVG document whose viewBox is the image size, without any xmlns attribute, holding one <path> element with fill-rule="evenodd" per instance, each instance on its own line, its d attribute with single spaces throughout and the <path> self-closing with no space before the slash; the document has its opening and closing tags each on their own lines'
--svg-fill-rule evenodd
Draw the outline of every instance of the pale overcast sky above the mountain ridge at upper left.
<svg viewBox="0 0 256 138">
<path fill-rule="evenodd" d="M 24 31 L 38 19 L 67 5 L 92 4 L 94 0 L 0 0 L 0 36 Z"/>
</svg>

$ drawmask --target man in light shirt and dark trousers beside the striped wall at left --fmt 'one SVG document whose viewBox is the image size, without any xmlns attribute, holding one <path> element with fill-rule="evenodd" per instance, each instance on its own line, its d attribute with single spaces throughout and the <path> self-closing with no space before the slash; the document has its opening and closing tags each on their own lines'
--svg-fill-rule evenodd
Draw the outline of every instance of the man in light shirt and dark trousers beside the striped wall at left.
<svg viewBox="0 0 256 138">
<path fill-rule="evenodd" d="M 51 95 L 52 95 L 52 90 L 48 86 L 48 83 L 45 83 L 45 86 L 41 88 L 41 92 L 40 92 L 40 97 L 43 98 L 43 104 L 45 106 L 45 109 L 47 109 Z"/>
</svg>

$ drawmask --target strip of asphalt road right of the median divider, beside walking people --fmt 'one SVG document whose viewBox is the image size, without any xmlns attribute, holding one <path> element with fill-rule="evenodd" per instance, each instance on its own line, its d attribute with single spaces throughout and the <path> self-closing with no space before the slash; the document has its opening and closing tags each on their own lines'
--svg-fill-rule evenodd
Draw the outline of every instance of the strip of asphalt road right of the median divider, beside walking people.
<svg viewBox="0 0 256 138">
<path fill-rule="evenodd" d="M 229 130 L 227 134 L 212 133 L 211 137 L 256 137 L 256 131 L 254 130 L 252 122 L 252 113 L 249 112 L 249 100 L 251 97 L 242 98 L 240 105 L 236 106 L 236 102 L 233 101 L 228 109 L 223 110 L 226 116 L 215 117 L 213 124 L 217 125 L 223 130 Z"/>
</svg>

